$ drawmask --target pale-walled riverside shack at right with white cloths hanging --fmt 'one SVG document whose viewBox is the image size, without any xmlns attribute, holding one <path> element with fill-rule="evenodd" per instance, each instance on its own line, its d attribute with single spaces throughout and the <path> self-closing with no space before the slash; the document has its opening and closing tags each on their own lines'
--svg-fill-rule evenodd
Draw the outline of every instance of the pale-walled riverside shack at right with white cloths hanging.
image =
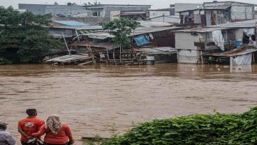
<svg viewBox="0 0 257 145">
<path fill-rule="evenodd" d="M 219 26 L 174 31 L 177 61 L 208 63 L 210 56 L 214 56 L 215 59 L 227 58 L 230 65 L 249 64 L 254 61 L 252 54 L 257 50 L 256 22 L 257 20 L 230 22 Z M 240 59 L 241 61 L 235 62 L 238 56 L 245 54 L 249 54 L 249 57 L 243 59 L 249 61 Z"/>
</svg>

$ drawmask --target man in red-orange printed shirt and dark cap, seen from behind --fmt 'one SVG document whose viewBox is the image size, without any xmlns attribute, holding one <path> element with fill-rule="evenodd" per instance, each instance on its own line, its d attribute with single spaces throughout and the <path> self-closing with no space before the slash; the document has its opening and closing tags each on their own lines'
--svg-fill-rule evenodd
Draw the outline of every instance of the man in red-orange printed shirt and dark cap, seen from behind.
<svg viewBox="0 0 257 145">
<path fill-rule="evenodd" d="M 39 128 L 45 124 L 42 119 L 36 118 L 36 109 L 27 109 L 28 117 L 18 122 L 18 131 L 21 134 L 22 145 L 27 145 L 27 141 L 32 137 L 31 134 L 38 132 Z"/>
</svg>

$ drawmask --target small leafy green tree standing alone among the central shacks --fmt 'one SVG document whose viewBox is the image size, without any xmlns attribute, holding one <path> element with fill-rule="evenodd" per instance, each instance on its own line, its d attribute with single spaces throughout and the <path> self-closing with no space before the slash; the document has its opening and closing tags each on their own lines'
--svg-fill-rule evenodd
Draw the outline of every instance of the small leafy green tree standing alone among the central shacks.
<svg viewBox="0 0 257 145">
<path fill-rule="evenodd" d="M 113 41 L 115 44 L 119 45 L 120 51 L 122 51 L 122 49 L 131 47 L 131 40 L 128 38 L 128 36 L 133 30 L 138 28 L 139 25 L 140 22 L 120 18 L 104 23 L 103 29 L 115 36 Z"/>
</svg>

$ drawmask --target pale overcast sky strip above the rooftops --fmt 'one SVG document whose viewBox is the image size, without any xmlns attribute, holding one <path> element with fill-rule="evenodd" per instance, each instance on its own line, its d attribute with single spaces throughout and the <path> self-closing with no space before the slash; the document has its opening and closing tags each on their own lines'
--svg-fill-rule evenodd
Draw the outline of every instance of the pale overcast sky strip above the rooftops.
<svg viewBox="0 0 257 145">
<path fill-rule="evenodd" d="M 57 2 L 59 4 L 71 3 L 93 3 L 95 0 L 0 0 L 0 5 L 4 7 L 13 6 L 13 8 L 18 8 L 18 3 L 31 3 L 31 4 L 53 4 Z M 222 1 L 222 0 L 220 0 Z M 228 0 L 224 0 L 228 1 Z M 237 1 L 237 0 L 235 0 Z M 131 5 L 152 5 L 152 8 L 168 8 L 170 4 L 174 3 L 203 3 L 211 1 L 202 0 L 98 0 L 101 4 L 131 4 Z M 256 0 L 238 1 L 244 3 L 254 3 L 257 4 Z"/>
</svg>

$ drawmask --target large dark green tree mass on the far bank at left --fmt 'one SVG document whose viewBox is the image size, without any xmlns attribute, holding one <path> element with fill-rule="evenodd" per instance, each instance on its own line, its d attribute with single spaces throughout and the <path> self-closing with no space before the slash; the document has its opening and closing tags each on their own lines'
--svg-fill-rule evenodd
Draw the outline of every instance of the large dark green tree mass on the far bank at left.
<svg viewBox="0 0 257 145">
<path fill-rule="evenodd" d="M 37 63 L 53 48 L 64 47 L 43 27 L 51 17 L 0 6 L 0 61 Z"/>
</svg>

